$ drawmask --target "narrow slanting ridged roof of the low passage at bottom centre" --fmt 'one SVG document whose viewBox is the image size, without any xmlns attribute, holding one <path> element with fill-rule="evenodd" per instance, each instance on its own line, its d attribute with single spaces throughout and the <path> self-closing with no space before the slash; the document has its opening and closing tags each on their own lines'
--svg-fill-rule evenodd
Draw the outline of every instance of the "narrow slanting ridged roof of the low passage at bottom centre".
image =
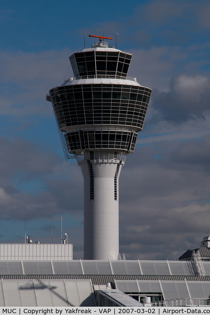
<svg viewBox="0 0 210 315">
<path fill-rule="evenodd" d="M 115 289 L 103 289 L 97 291 L 98 294 L 104 293 L 105 296 L 108 298 L 110 297 L 111 299 L 115 300 L 116 302 L 119 302 L 122 306 L 127 306 L 127 307 L 140 307 L 143 306 L 142 303 L 139 303 L 132 297 L 128 296 L 127 294 L 123 293 L 120 290 L 115 290 Z"/>
</svg>

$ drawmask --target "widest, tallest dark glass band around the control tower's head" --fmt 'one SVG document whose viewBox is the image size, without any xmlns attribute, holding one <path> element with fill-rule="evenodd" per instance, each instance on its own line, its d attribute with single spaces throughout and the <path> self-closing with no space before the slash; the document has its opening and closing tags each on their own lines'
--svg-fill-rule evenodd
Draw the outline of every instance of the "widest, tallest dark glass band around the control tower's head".
<svg viewBox="0 0 210 315">
<path fill-rule="evenodd" d="M 56 87 L 50 93 L 60 128 L 106 124 L 141 130 L 151 89 L 121 84 L 78 84 Z"/>
</svg>

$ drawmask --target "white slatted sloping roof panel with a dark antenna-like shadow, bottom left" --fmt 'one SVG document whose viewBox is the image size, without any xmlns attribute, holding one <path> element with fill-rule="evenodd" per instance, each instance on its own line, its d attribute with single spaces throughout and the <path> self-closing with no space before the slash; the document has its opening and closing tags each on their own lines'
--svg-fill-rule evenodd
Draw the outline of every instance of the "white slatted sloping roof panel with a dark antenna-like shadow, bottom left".
<svg viewBox="0 0 210 315">
<path fill-rule="evenodd" d="M 0 306 L 96 306 L 91 280 L 0 280 Z"/>
</svg>

